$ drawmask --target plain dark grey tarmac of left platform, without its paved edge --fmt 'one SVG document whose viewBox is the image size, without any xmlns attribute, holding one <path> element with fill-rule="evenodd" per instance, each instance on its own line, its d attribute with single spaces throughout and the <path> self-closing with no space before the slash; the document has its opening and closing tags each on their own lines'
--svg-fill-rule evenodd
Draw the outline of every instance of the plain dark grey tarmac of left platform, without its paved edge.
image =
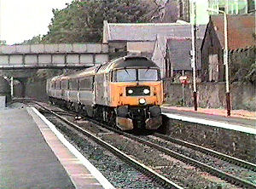
<svg viewBox="0 0 256 189">
<path fill-rule="evenodd" d="M 0 111 L 0 188 L 75 188 L 26 108 Z"/>
</svg>

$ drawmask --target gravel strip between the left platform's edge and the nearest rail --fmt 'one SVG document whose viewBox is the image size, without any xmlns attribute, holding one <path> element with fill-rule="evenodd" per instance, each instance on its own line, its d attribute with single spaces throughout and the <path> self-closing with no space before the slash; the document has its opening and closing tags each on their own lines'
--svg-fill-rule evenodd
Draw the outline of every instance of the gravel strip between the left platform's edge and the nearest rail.
<svg viewBox="0 0 256 189">
<path fill-rule="evenodd" d="M 84 140 L 79 132 L 68 129 L 66 123 L 56 121 L 54 117 L 47 118 L 116 188 L 163 188 L 148 176 L 116 158 L 111 152 L 107 152 L 94 141 Z M 90 126 L 86 128 L 90 128 Z"/>
</svg>

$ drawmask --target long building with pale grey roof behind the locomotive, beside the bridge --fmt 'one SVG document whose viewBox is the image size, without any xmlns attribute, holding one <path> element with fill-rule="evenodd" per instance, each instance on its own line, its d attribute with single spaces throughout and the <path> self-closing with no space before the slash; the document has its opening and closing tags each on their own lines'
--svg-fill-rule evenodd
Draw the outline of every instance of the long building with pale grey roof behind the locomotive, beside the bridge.
<svg viewBox="0 0 256 189">
<path fill-rule="evenodd" d="M 197 37 L 202 39 L 205 29 L 206 26 L 198 26 Z M 186 22 L 182 24 L 116 24 L 104 21 L 103 43 L 108 43 L 110 56 L 119 56 L 119 53 L 122 52 L 146 55 L 160 66 L 162 77 L 166 77 L 166 43 L 168 38 L 191 39 L 191 26 Z M 189 53 L 187 56 L 189 57 Z"/>
</svg>

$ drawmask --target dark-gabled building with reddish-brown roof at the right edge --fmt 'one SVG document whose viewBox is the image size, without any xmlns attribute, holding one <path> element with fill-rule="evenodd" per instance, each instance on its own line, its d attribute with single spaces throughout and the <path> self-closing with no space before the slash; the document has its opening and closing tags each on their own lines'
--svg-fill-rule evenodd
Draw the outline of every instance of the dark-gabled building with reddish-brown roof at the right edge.
<svg viewBox="0 0 256 189">
<path fill-rule="evenodd" d="M 228 15 L 228 49 L 230 69 L 245 60 L 255 62 L 255 14 Z M 224 16 L 212 15 L 202 46 L 202 79 L 224 81 Z M 242 58 L 241 58 L 242 57 Z"/>
</svg>

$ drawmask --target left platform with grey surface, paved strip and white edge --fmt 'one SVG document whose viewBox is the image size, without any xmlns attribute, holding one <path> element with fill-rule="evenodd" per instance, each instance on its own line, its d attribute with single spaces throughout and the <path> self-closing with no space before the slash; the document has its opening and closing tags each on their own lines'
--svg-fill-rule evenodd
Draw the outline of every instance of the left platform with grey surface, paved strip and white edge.
<svg viewBox="0 0 256 189">
<path fill-rule="evenodd" d="M 113 188 L 35 108 L 0 110 L 0 188 Z"/>
</svg>

